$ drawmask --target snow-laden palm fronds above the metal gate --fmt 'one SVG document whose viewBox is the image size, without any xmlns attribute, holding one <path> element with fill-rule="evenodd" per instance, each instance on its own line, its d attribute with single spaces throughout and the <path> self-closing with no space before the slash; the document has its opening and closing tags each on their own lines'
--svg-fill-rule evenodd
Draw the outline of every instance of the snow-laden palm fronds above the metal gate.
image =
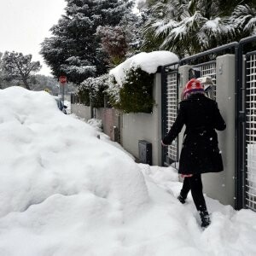
<svg viewBox="0 0 256 256">
<path fill-rule="evenodd" d="M 253 8 L 238 5 L 232 15 L 230 10 L 231 16 L 226 16 L 227 11 L 224 14 L 220 9 L 222 4 L 224 1 L 209 0 L 162 0 L 154 4 L 143 32 L 143 49 L 168 49 L 183 57 L 228 44 L 241 31 L 243 35 L 253 33 Z"/>
</svg>

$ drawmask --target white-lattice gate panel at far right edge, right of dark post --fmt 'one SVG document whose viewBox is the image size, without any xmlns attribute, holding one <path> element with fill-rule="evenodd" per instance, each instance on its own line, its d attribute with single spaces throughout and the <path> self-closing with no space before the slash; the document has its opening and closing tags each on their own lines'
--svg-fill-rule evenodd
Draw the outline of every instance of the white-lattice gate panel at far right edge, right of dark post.
<svg viewBox="0 0 256 256">
<path fill-rule="evenodd" d="M 256 51 L 246 55 L 245 207 L 256 211 Z"/>
</svg>

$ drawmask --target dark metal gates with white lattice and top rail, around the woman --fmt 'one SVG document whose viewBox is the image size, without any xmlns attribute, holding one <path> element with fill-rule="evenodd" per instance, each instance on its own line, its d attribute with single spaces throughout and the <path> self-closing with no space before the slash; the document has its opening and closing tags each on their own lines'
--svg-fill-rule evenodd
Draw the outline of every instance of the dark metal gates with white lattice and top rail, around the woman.
<svg viewBox="0 0 256 256">
<path fill-rule="evenodd" d="M 256 36 L 207 50 L 162 67 L 162 134 L 165 135 L 177 117 L 177 66 L 189 65 L 200 71 L 201 77 L 210 77 L 216 84 L 216 58 L 236 56 L 235 102 L 235 207 L 256 211 Z M 244 58 L 245 56 L 245 58 Z M 245 65 L 244 65 L 245 64 Z M 176 66 L 175 66 L 176 65 Z M 216 98 L 216 86 L 213 88 Z M 178 161 L 177 141 L 163 151 L 163 164 Z"/>
</svg>

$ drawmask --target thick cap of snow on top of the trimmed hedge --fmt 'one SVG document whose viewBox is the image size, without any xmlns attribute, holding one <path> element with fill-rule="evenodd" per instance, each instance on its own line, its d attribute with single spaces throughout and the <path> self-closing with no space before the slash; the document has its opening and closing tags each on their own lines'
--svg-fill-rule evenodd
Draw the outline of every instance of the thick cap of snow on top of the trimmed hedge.
<svg viewBox="0 0 256 256">
<path fill-rule="evenodd" d="M 122 84 L 125 79 L 125 72 L 131 67 L 141 67 L 147 73 L 156 73 L 157 67 L 178 61 L 177 55 L 167 50 L 153 51 L 150 53 L 141 52 L 132 56 L 119 66 L 110 70 L 118 84 Z"/>
</svg>

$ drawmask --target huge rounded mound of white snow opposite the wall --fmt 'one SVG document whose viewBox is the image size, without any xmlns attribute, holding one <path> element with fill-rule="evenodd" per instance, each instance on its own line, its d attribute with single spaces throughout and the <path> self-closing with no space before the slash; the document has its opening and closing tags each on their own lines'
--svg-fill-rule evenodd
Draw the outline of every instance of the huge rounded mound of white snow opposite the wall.
<svg viewBox="0 0 256 256">
<path fill-rule="evenodd" d="M 121 224 L 148 201 L 143 175 L 133 160 L 99 140 L 90 125 L 61 113 L 47 92 L 11 87 L 0 91 L 0 98 L 4 236 L 25 232 L 25 239 L 59 233 L 63 227 L 63 236 L 78 236 L 79 230 Z M 0 233 L 0 255 L 7 255 L 1 247 L 11 241 Z M 41 254 L 24 249 L 23 255 Z"/>
</svg>

